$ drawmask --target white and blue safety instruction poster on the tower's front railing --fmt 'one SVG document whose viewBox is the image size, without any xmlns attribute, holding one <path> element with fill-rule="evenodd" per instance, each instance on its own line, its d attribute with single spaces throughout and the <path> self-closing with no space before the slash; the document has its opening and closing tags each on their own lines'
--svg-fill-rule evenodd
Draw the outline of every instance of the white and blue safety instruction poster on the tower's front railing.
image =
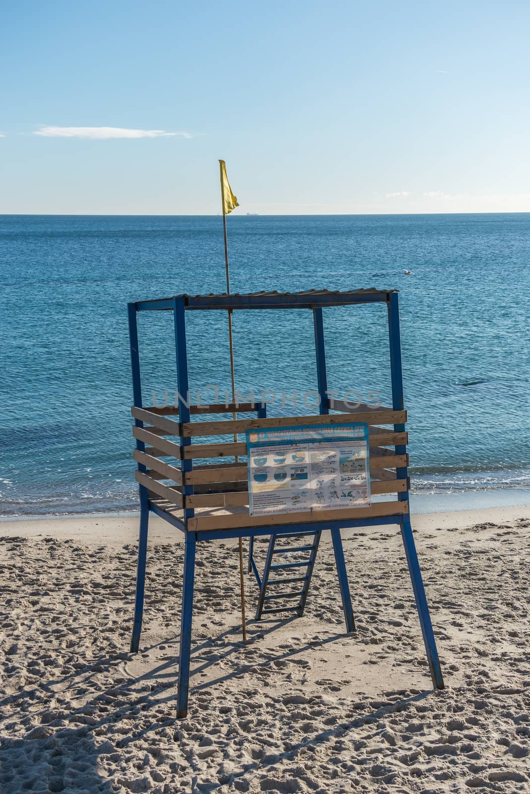
<svg viewBox="0 0 530 794">
<path fill-rule="evenodd" d="M 250 515 L 368 507 L 368 426 L 247 431 Z"/>
</svg>

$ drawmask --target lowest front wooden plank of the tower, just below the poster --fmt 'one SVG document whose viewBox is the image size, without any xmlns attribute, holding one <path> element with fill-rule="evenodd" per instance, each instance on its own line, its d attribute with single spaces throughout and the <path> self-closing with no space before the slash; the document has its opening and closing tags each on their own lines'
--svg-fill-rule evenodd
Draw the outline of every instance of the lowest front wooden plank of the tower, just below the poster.
<svg viewBox="0 0 530 794">
<path fill-rule="evenodd" d="M 191 532 L 207 530 L 230 530 L 242 526 L 278 526 L 278 524 L 301 524 L 319 521 L 344 521 L 347 518 L 378 518 L 383 515 L 396 517 L 409 512 L 407 502 L 376 502 L 371 507 L 352 507 L 351 510 L 315 510 L 304 513 L 280 515 L 248 515 L 248 512 L 232 515 L 204 515 L 188 518 L 187 528 Z"/>
</svg>

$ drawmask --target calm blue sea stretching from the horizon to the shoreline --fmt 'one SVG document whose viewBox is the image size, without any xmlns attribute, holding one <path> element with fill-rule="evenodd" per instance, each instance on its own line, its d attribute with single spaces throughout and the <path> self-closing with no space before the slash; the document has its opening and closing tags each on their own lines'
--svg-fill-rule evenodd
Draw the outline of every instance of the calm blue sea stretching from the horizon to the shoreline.
<svg viewBox="0 0 530 794">
<path fill-rule="evenodd" d="M 530 484 L 530 214 L 228 220 L 232 291 L 400 290 L 415 490 Z M 219 217 L 0 216 L 3 515 L 136 507 L 125 304 L 224 291 L 224 269 Z M 211 402 L 226 316 L 190 315 Z M 171 322 L 140 316 L 149 404 L 176 388 Z M 384 307 L 328 310 L 325 333 L 329 387 L 389 404 Z M 240 391 L 315 388 L 309 311 L 237 313 L 234 344 Z"/>
</svg>

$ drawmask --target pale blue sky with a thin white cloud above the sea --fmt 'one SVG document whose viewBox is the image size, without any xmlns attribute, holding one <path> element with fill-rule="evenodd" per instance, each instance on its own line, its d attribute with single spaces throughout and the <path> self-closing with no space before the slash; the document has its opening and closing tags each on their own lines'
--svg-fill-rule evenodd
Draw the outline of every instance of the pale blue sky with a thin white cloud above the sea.
<svg viewBox="0 0 530 794">
<path fill-rule="evenodd" d="M 530 211 L 530 4 L 19 0 L 0 214 Z"/>
</svg>

